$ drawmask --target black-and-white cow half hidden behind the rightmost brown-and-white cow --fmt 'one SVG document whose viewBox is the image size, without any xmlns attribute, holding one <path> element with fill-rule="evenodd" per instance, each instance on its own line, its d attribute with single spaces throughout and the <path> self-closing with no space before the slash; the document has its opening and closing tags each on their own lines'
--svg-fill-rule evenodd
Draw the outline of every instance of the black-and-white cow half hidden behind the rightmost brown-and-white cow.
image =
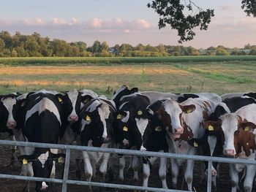
<svg viewBox="0 0 256 192">
<path fill-rule="evenodd" d="M 250 97 L 236 96 L 227 98 L 221 103 L 217 104 L 214 112 L 210 115 L 208 120 L 217 121 L 221 115 L 236 112 L 236 110 L 244 107 L 248 104 L 256 104 L 256 100 Z M 202 146 L 203 155 L 219 157 L 222 155 L 222 134 L 219 131 L 214 130 L 213 128 L 206 128 L 204 136 L 200 139 L 193 138 L 189 140 L 189 144 L 193 147 Z M 208 161 L 205 161 L 206 164 L 206 173 L 208 172 Z M 217 162 L 213 162 L 212 167 L 212 178 L 214 181 L 214 187 L 216 188 L 216 177 L 217 176 Z"/>
</svg>

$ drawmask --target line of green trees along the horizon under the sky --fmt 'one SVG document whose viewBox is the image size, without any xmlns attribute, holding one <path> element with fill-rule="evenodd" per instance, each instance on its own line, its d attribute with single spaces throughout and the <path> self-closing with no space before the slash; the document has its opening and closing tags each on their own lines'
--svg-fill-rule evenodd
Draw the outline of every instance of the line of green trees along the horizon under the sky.
<svg viewBox="0 0 256 192">
<path fill-rule="evenodd" d="M 61 39 L 50 40 L 41 37 L 37 32 L 31 35 L 8 31 L 0 32 L 0 57 L 158 57 L 178 55 L 256 55 L 256 45 L 245 45 L 243 48 L 228 48 L 222 45 L 197 50 L 182 45 L 132 46 L 127 43 L 109 47 L 107 42 L 94 41 L 87 46 L 86 42 L 66 42 Z"/>
</svg>

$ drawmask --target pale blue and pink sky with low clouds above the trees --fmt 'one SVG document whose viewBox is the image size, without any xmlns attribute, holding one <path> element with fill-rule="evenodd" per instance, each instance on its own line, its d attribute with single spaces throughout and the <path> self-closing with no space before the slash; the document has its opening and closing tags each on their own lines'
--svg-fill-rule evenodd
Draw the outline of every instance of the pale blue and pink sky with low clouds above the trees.
<svg viewBox="0 0 256 192">
<path fill-rule="evenodd" d="M 83 41 L 95 40 L 114 46 L 178 45 L 177 31 L 170 26 L 159 30 L 158 15 L 146 6 L 151 0 L 0 0 L 0 31 Z M 244 47 L 256 45 L 256 18 L 246 17 L 241 0 L 194 0 L 203 9 L 215 9 L 207 31 L 184 46 L 196 48 Z"/>
</svg>

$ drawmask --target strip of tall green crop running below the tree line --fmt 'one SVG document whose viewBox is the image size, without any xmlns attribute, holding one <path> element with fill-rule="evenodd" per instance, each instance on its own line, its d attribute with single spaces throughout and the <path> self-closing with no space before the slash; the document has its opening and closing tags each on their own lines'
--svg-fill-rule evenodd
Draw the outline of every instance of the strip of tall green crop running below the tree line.
<svg viewBox="0 0 256 192">
<path fill-rule="evenodd" d="M 173 64 L 173 63 L 197 63 L 197 62 L 232 62 L 232 61 L 256 61 L 256 55 L 231 55 L 231 56 L 170 56 L 170 57 L 148 57 L 148 58 L 122 58 L 122 57 L 88 57 L 88 58 L 66 58 L 66 57 L 31 57 L 31 58 L 0 58 L 0 64 L 4 65 L 64 65 L 64 64 L 86 64 L 86 65 L 113 65 L 113 64 Z"/>
</svg>

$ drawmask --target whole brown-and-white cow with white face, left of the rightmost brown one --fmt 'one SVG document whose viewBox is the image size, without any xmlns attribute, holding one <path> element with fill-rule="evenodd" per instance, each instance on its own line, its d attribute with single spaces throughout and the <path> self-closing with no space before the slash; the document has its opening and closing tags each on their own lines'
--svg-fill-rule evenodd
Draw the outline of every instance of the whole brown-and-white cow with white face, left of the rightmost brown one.
<svg viewBox="0 0 256 192">
<path fill-rule="evenodd" d="M 220 99 L 216 99 L 220 101 Z M 159 119 L 167 130 L 167 142 L 171 153 L 195 155 L 196 150 L 188 144 L 192 137 L 203 137 L 205 129 L 203 123 L 213 112 L 216 102 L 207 99 L 187 99 L 181 103 L 167 99 L 157 112 Z M 183 159 L 171 159 L 173 188 L 177 185 L 178 167 L 183 164 Z M 185 180 L 189 191 L 192 191 L 194 161 L 187 160 Z"/>
</svg>

